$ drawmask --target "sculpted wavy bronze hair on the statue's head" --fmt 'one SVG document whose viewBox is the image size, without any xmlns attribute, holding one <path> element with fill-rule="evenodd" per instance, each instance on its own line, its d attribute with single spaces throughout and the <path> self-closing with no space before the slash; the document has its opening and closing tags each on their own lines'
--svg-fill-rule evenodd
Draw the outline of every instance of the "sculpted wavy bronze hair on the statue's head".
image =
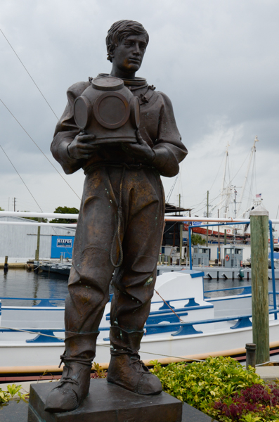
<svg viewBox="0 0 279 422">
<path fill-rule="evenodd" d="M 110 52 L 112 52 L 123 39 L 130 35 L 145 35 L 146 44 L 148 44 L 148 32 L 144 29 L 143 25 L 136 22 L 136 20 L 118 20 L 112 24 L 105 39 L 108 51 L 107 59 L 110 60 L 110 62 L 112 62 L 112 57 L 110 56 L 109 49 Z"/>
</svg>

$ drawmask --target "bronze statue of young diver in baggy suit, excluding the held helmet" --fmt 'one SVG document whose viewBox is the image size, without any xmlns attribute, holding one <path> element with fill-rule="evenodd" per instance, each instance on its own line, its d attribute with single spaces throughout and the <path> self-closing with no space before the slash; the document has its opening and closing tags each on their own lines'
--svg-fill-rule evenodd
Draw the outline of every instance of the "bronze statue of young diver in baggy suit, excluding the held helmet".
<svg viewBox="0 0 279 422">
<path fill-rule="evenodd" d="M 109 300 L 111 280 L 114 295 L 107 379 L 141 395 L 162 391 L 138 350 L 150 312 L 164 227 L 160 174 L 174 177 L 187 150 L 169 98 L 135 76 L 148 45 L 144 27 L 120 20 L 108 31 L 106 42 L 112 71 L 98 78 L 124 81 L 138 97 L 140 123 L 133 132 L 134 142 L 99 143 L 93 131 L 86 134 L 74 119 L 74 101 L 83 97 L 91 84 L 97 87 L 98 80 L 77 82 L 67 91 L 68 103 L 51 151 L 65 173 L 83 168 L 86 178 L 65 301 L 65 352 L 61 356 L 65 366 L 46 401 L 46 411 L 51 412 L 76 409 L 89 392 L 98 326 Z M 112 129 L 107 130 L 109 136 Z"/>
</svg>

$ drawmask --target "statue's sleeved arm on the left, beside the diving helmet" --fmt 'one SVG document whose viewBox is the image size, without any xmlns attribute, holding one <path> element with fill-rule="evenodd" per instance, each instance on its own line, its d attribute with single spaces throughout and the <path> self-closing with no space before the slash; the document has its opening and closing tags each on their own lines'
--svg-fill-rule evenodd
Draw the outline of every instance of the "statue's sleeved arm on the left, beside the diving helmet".
<svg viewBox="0 0 279 422">
<path fill-rule="evenodd" d="M 89 87 L 89 82 L 77 82 L 67 90 L 67 106 L 56 125 L 53 141 L 51 143 L 51 153 L 60 163 L 66 174 L 77 172 L 83 165 L 83 159 L 72 158 L 68 152 L 68 146 L 79 134 L 80 129 L 74 122 L 74 100 L 80 96 L 84 89 Z"/>
</svg>

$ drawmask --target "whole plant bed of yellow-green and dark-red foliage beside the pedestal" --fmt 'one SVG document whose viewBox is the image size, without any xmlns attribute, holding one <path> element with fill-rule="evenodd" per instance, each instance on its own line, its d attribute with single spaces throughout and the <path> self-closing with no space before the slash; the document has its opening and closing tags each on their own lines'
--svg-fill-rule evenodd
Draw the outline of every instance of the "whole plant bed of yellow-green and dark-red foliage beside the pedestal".
<svg viewBox="0 0 279 422">
<path fill-rule="evenodd" d="M 266 385 L 249 367 L 231 357 L 169 364 L 151 370 L 165 392 L 222 422 L 279 422 L 279 386 Z"/>
</svg>

